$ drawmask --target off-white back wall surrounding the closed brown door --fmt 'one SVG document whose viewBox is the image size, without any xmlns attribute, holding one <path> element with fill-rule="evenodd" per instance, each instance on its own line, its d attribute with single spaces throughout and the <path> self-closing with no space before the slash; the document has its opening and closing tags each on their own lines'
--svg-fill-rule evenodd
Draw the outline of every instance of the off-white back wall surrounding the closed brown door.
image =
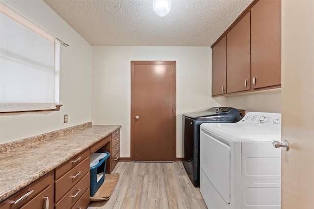
<svg viewBox="0 0 314 209">
<path fill-rule="evenodd" d="M 182 114 L 224 106 L 211 98 L 210 47 L 93 46 L 92 120 L 122 125 L 121 157 L 131 156 L 131 61 L 177 61 L 177 157 L 184 155 Z"/>
</svg>

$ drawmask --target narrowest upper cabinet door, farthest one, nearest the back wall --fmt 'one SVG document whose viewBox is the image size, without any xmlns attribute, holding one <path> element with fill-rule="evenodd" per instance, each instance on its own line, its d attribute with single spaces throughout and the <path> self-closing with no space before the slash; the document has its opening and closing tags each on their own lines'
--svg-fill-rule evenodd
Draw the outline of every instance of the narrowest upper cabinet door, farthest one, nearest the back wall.
<svg viewBox="0 0 314 209">
<path fill-rule="evenodd" d="M 212 48 L 211 95 L 226 93 L 226 36 Z"/>
</svg>

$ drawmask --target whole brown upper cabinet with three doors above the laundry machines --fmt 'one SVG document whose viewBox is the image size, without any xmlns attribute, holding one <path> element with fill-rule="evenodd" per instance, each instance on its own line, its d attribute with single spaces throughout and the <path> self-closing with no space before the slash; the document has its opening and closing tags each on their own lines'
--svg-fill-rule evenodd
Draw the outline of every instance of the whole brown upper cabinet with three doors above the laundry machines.
<svg viewBox="0 0 314 209">
<path fill-rule="evenodd" d="M 281 0 L 253 0 L 212 47 L 212 96 L 281 87 Z"/>
</svg>

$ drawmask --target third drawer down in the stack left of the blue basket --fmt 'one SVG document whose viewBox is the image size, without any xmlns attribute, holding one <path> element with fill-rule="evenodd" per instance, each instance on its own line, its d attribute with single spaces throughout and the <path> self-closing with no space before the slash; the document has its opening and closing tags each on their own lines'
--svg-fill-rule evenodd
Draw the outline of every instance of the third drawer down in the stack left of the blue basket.
<svg viewBox="0 0 314 209">
<path fill-rule="evenodd" d="M 64 195 L 64 197 L 55 205 L 55 209 L 70 209 L 79 200 L 79 198 L 88 190 L 90 186 L 90 175 L 87 173 L 76 186 Z"/>
</svg>

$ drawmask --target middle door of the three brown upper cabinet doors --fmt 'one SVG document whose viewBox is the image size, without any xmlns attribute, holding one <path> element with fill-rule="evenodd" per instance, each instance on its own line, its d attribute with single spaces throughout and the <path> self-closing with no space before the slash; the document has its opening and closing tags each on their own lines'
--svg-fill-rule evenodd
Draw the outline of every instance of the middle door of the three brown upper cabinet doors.
<svg viewBox="0 0 314 209">
<path fill-rule="evenodd" d="M 250 12 L 227 34 L 227 93 L 250 90 Z"/>
</svg>

